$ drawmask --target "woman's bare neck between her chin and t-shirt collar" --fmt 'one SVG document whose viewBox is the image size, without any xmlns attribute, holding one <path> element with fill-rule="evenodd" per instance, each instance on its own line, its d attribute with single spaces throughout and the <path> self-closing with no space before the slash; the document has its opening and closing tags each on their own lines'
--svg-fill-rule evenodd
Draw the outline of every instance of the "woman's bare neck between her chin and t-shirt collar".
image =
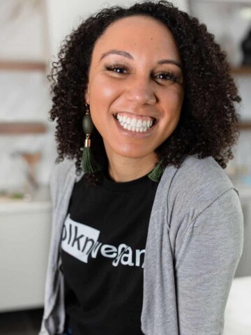
<svg viewBox="0 0 251 335">
<path fill-rule="evenodd" d="M 151 172 L 157 162 L 154 153 L 143 158 L 128 158 L 114 154 L 107 154 L 107 157 L 109 177 L 116 182 L 139 179 Z"/>
</svg>

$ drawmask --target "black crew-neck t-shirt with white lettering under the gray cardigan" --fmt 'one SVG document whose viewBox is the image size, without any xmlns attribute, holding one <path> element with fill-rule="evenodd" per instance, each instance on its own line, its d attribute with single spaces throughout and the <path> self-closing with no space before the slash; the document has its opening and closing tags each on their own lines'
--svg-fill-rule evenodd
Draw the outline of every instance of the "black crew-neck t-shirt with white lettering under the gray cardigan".
<svg viewBox="0 0 251 335">
<path fill-rule="evenodd" d="M 104 177 L 74 188 L 61 256 L 73 335 L 139 335 L 146 237 L 158 183 Z"/>
</svg>

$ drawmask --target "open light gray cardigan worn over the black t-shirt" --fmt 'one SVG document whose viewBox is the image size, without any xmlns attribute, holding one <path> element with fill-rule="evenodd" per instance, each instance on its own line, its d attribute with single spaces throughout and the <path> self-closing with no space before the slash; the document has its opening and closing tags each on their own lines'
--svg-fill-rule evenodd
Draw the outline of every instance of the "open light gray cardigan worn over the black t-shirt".
<svg viewBox="0 0 251 335">
<path fill-rule="evenodd" d="M 61 230 L 75 163 L 56 165 L 51 178 L 53 225 L 40 335 L 62 334 Z M 238 193 L 213 158 L 188 156 L 167 167 L 151 211 L 144 258 L 142 332 L 219 335 L 231 282 L 243 249 Z"/>
</svg>

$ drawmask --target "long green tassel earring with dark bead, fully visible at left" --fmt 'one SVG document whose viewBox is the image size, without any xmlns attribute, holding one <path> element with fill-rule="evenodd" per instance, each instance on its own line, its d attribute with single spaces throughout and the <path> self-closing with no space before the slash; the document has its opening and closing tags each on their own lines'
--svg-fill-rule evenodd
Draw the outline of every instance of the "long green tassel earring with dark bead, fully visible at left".
<svg viewBox="0 0 251 335">
<path fill-rule="evenodd" d="M 82 155 L 82 170 L 86 173 L 95 173 L 102 170 L 100 165 L 95 161 L 93 154 L 91 153 L 91 140 L 90 135 L 93 131 L 94 125 L 91 119 L 91 114 L 89 111 L 89 106 L 86 103 L 86 114 L 84 114 L 84 118 L 82 121 L 82 126 L 86 138 L 84 140 L 84 148 Z"/>
</svg>

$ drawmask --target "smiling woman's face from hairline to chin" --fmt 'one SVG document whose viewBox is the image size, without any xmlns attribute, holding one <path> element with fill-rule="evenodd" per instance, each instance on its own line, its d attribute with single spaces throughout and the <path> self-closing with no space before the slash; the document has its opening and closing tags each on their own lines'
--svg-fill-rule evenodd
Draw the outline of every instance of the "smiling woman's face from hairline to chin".
<svg viewBox="0 0 251 335">
<path fill-rule="evenodd" d="M 181 57 L 164 24 L 126 17 L 97 40 L 85 98 L 108 158 L 155 157 L 178 124 L 183 95 Z"/>
</svg>

